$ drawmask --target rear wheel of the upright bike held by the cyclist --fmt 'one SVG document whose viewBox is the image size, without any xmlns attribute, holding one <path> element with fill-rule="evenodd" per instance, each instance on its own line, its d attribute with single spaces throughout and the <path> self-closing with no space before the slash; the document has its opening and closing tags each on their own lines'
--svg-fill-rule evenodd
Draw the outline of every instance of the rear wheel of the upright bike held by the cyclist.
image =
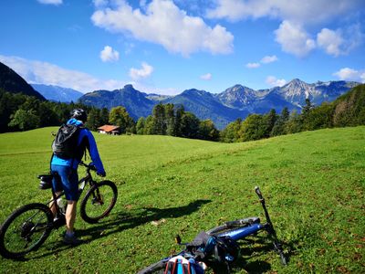
<svg viewBox="0 0 365 274">
<path fill-rule="evenodd" d="M 0 254 L 4 258 L 22 258 L 39 248 L 52 228 L 53 215 L 47 205 L 23 205 L 8 216 L 0 227 Z"/>
</svg>

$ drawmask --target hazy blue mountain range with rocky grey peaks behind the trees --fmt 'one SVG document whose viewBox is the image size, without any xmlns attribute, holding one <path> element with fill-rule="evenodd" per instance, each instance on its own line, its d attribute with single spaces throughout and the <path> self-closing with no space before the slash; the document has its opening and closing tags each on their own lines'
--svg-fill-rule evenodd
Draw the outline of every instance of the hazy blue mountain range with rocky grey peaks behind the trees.
<svg viewBox="0 0 365 274">
<path fill-rule="evenodd" d="M 308 84 L 293 79 L 283 87 L 267 90 L 235 85 L 217 94 L 193 89 L 170 97 L 147 94 L 126 85 L 120 90 L 96 90 L 84 94 L 79 102 L 108 109 L 124 106 L 135 120 L 151 115 L 153 107 L 159 102 L 173 103 L 183 105 L 185 111 L 193 112 L 201 120 L 211 119 L 218 129 L 223 129 L 229 122 L 237 118 L 245 119 L 250 113 L 266 113 L 271 109 L 280 112 L 285 107 L 289 111 L 300 111 L 306 99 L 315 105 L 332 101 L 359 84 L 349 81 L 318 81 Z"/>
</svg>

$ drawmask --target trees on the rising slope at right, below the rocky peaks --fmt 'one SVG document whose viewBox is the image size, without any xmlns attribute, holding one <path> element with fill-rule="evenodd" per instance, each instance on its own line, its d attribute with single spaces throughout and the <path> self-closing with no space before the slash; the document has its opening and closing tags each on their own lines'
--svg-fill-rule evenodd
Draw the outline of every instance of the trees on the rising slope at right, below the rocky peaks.
<svg viewBox="0 0 365 274">
<path fill-rule="evenodd" d="M 289 133 L 365 124 L 365 85 L 360 85 L 333 102 L 315 107 L 307 99 L 300 113 L 284 108 L 277 114 L 251 114 L 237 119 L 220 132 L 221 142 L 254 141 Z"/>
</svg>

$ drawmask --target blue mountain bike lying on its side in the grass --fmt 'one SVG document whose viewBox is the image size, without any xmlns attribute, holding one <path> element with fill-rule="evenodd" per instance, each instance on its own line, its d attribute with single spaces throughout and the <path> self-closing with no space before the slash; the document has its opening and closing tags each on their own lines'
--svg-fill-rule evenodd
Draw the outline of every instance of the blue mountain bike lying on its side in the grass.
<svg viewBox="0 0 365 274">
<path fill-rule="evenodd" d="M 236 241 L 255 235 L 261 230 L 267 232 L 276 252 L 280 255 L 282 264 L 287 265 L 287 258 L 276 237 L 276 231 L 266 209 L 265 199 L 257 186 L 255 193 L 258 195 L 265 212 L 265 224 L 261 224 L 259 217 L 247 217 L 226 222 L 224 225 L 214 227 L 206 232 L 202 231 L 192 243 L 182 244 L 181 238 L 177 236 L 176 242 L 179 245 L 184 245 L 185 249 L 142 269 L 139 274 L 203 274 L 207 268 L 213 269 L 215 273 L 230 273 L 232 263 L 239 257 L 240 248 Z"/>
</svg>

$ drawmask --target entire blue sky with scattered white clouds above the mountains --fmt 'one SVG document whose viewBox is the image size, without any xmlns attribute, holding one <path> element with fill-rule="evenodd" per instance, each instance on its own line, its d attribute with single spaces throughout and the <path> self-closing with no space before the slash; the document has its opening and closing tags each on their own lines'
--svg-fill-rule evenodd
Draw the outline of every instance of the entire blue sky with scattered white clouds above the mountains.
<svg viewBox="0 0 365 274">
<path fill-rule="evenodd" d="M 365 0 L 4 0 L 0 61 L 82 92 L 365 82 Z"/>
</svg>

